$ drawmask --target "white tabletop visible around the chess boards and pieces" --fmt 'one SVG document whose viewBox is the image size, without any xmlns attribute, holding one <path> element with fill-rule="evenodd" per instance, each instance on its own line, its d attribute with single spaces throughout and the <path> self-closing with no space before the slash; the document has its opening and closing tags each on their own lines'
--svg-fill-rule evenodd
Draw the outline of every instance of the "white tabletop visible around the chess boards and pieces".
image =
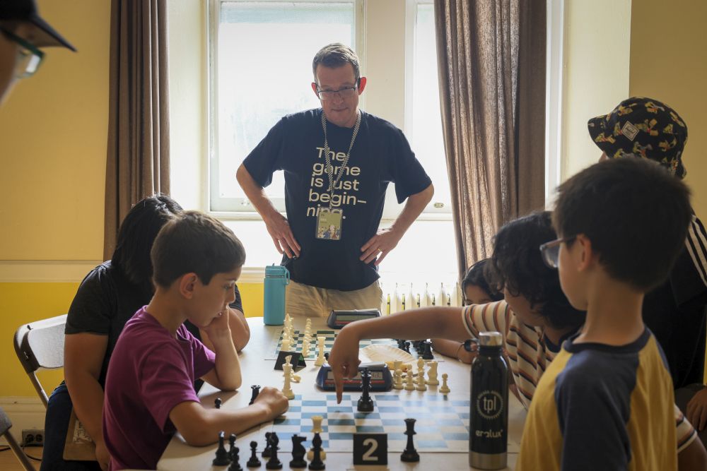
<svg viewBox="0 0 707 471">
<path fill-rule="evenodd" d="M 274 370 L 275 361 L 273 359 L 264 359 L 272 357 L 272 350 L 279 339 L 281 326 L 264 326 L 262 317 L 251 317 L 247 319 L 250 326 L 250 342 L 247 347 L 240 353 L 240 364 L 243 371 L 243 386 L 236 392 L 224 393 L 218 391 L 209 384 L 204 384 L 204 387 L 199 393 L 199 397 L 204 404 L 204 407 L 214 407 L 214 399 L 219 397 L 223 400 L 222 409 L 238 409 L 247 406 L 250 401 L 250 385 L 259 384 L 262 386 L 274 386 L 281 388 L 283 385 L 282 371 Z M 295 318 L 293 326 L 296 329 L 304 329 L 305 319 Z M 312 318 L 312 331 L 329 330 L 326 326 L 324 318 Z M 315 349 L 315 343 L 312 344 L 312 349 Z M 459 395 L 464 398 L 469 398 L 469 365 L 457 362 L 455 359 L 448 357 L 436 357 L 443 359 L 438 366 L 438 374 L 441 381 L 443 373 L 449 374 L 449 387 L 452 390 L 452 395 Z M 314 362 L 308 362 L 305 369 L 297 371 L 297 374 L 302 376 L 300 383 L 292 383 L 292 388 L 295 394 L 313 395 L 324 394 L 315 385 L 315 378 L 319 371 L 318 366 L 314 366 Z M 416 392 L 416 391 L 415 391 Z M 329 393 L 327 391 L 327 393 Z M 331 394 L 331 393 L 329 393 Z M 353 393 L 358 395 L 358 393 Z M 422 394 L 422 393 L 421 393 Z M 525 421 L 525 410 L 518 402 L 518 399 L 509 394 L 509 412 L 508 412 L 508 439 L 513 443 L 509 447 L 508 453 L 508 468 L 513 470 L 515 460 L 517 458 L 518 444 L 520 444 L 520 436 L 522 434 L 523 422 Z M 257 429 L 252 429 L 256 431 Z M 258 440 L 255 433 L 251 437 L 250 432 L 240 434 L 238 436 L 237 446 L 240 448 L 240 465 L 245 469 L 265 469 L 267 458 L 260 458 L 262 466 L 260 468 L 246 468 L 245 462 L 250 457 L 250 448 L 248 443 L 252 439 Z M 311 436 L 307 434 L 308 441 L 305 446 L 311 447 Z M 287 443 L 280 443 L 284 446 Z M 258 456 L 264 447 L 264 441 L 258 440 Z M 185 443 L 180 434 L 176 434 L 170 441 L 165 453 L 163 453 L 157 468 L 158 470 L 226 470 L 227 467 L 212 467 L 211 460 L 216 454 L 217 445 L 195 447 Z M 228 448 L 228 446 L 227 446 Z M 289 449 L 289 448 L 288 448 Z M 381 466 L 356 466 L 354 467 L 353 453 L 351 452 L 335 452 L 327 451 L 325 464 L 327 470 L 431 470 L 436 466 L 443 466 L 449 470 L 473 469 L 469 467 L 468 453 L 426 453 L 420 451 L 419 463 L 403 463 L 400 461 L 399 452 L 389 451 L 387 467 Z M 289 470 L 289 461 L 292 459 L 289 451 L 279 451 L 278 456 L 282 461 L 284 470 Z"/>
</svg>

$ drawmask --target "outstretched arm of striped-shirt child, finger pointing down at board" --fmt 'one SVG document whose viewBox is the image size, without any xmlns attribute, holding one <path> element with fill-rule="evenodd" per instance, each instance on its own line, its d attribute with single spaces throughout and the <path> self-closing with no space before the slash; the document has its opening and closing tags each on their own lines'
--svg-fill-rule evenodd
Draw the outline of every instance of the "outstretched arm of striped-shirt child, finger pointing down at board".
<svg viewBox="0 0 707 471">
<path fill-rule="evenodd" d="M 448 338 L 463 342 L 469 338 L 462 310 L 455 307 L 428 307 L 403 311 L 391 316 L 367 319 L 350 323 L 339 332 L 329 354 L 334 384 L 337 386 L 337 401 L 341 402 L 343 378 L 356 376 L 358 372 L 358 342 L 364 338 Z"/>
</svg>

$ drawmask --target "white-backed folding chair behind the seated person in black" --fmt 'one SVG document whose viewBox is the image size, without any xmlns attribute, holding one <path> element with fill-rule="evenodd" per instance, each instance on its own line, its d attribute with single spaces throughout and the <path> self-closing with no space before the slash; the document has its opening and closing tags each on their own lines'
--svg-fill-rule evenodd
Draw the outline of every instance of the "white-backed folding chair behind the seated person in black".
<svg viewBox="0 0 707 471">
<path fill-rule="evenodd" d="M 64 366 L 66 314 L 20 326 L 15 333 L 15 352 L 45 407 L 47 393 L 35 371 Z"/>
</svg>

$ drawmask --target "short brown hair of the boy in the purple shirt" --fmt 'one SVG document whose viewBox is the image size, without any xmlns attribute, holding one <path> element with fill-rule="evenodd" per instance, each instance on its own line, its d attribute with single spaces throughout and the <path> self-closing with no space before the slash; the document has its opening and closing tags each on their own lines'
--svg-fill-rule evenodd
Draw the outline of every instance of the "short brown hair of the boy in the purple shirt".
<svg viewBox="0 0 707 471">
<path fill-rule="evenodd" d="M 153 280 L 168 288 L 187 273 L 204 285 L 216 273 L 228 273 L 245 263 L 245 249 L 223 222 L 199 211 L 185 211 L 164 225 L 152 246 Z"/>
</svg>

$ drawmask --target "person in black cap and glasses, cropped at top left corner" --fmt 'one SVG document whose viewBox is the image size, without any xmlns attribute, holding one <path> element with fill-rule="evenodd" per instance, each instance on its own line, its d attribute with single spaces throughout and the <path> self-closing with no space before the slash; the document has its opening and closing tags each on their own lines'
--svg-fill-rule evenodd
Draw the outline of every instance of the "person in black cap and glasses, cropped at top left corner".
<svg viewBox="0 0 707 471">
<path fill-rule="evenodd" d="M 44 58 L 40 47 L 49 46 L 76 51 L 42 20 L 34 0 L 0 1 L 0 105 L 18 78 L 37 71 Z"/>
</svg>

